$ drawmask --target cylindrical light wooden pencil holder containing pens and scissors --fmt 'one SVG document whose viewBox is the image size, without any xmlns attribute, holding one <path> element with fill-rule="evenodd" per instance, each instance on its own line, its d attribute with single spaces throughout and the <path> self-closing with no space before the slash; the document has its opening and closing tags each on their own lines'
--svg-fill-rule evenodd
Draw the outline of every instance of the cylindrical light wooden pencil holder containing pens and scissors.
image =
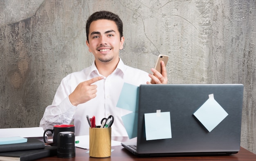
<svg viewBox="0 0 256 161">
<path fill-rule="evenodd" d="M 89 129 L 90 157 L 104 158 L 111 155 L 111 128 Z"/>
</svg>

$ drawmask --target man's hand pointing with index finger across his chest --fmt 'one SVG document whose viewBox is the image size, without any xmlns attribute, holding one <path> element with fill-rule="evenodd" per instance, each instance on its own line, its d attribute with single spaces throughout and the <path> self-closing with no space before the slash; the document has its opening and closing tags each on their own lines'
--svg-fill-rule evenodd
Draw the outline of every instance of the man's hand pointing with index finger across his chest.
<svg viewBox="0 0 256 161">
<path fill-rule="evenodd" d="M 81 82 L 76 89 L 68 96 L 72 105 L 83 104 L 96 97 L 97 85 L 93 84 L 103 77 L 95 77 L 88 81 Z"/>
</svg>

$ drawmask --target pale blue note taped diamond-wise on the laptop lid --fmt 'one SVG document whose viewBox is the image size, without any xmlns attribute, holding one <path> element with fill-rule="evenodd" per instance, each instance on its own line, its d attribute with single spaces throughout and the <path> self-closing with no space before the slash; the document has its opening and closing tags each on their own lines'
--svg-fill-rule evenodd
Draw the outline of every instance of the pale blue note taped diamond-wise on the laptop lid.
<svg viewBox="0 0 256 161">
<path fill-rule="evenodd" d="M 214 99 L 213 94 L 193 114 L 202 125 L 211 132 L 220 122 L 227 117 L 228 113 Z"/>
</svg>

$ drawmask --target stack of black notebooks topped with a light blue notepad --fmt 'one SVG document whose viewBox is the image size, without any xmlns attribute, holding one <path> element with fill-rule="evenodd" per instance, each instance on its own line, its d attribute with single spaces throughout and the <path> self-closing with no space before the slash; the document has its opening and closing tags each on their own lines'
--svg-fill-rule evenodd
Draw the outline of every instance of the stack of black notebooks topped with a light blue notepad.
<svg viewBox="0 0 256 161">
<path fill-rule="evenodd" d="M 0 138 L 0 161 L 34 161 L 57 154 L 56 146 L 34 138 L 4 137 Z"/>
</svg>

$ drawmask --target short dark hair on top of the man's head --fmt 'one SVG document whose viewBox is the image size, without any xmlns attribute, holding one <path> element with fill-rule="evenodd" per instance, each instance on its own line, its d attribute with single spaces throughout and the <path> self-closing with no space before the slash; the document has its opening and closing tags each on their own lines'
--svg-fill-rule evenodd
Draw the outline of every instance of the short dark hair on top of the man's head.
<svg viewBox="0 0 256 161">
<path fill-rule="evenodd" d="M 90 25 L 93 21 L 96 20 L 112 20 L 117 24 L 117 29 L 120 33 L 120 40 L 121 37 L 123 37 L 123 22 L 122 20 L 119 18 L 118 15 L 116 15 L 115 13 L 109 12 L 109 11 L 99 11 L 99 12 L 95 12 L 92 15 L 90 15 L 90 17 L 88 18 L 87 22 L 86 22 L 86 37 L 87 37 L 87 41 L 89 42 L 89 28 Z"/>
</svg>

